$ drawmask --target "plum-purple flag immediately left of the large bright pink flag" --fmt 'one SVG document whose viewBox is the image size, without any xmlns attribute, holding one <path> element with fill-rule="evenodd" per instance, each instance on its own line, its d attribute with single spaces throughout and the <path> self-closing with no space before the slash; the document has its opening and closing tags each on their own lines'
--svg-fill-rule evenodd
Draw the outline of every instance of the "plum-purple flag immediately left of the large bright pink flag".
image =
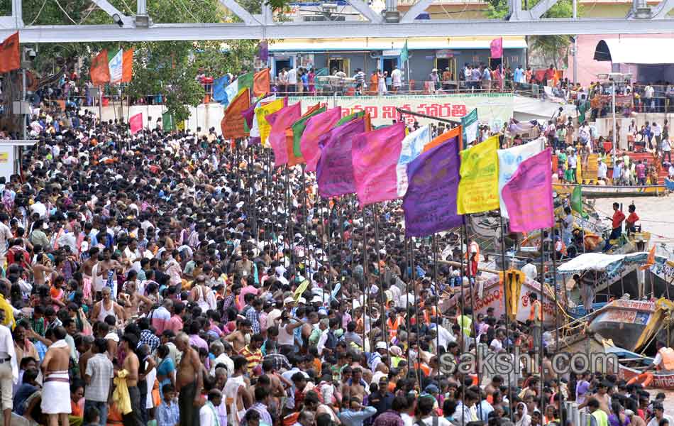
<svg viewBox="0 0 674 426">
<path fill-rule="evenodd" d="M 321 158 L 316 165 L 316 182 L 321 197 L 355 193 L 351 147 L 353 136 L 365 131 L 365 119 L 348 121 L 319 139 Z"/>
</svg>

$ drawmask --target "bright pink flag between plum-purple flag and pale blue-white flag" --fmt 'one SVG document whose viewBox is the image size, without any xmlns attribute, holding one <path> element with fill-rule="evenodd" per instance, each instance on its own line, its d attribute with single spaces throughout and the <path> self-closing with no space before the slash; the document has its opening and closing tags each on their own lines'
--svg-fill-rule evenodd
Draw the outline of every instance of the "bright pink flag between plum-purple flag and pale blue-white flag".
<svg viewBox="0 0 674 426">
<path fill-rule="evenodd" d="M 404 137 L 404 123 L 354 136 L 351 158 L 361 207 L 398 198 L 396 166 Z"/>
</svg>

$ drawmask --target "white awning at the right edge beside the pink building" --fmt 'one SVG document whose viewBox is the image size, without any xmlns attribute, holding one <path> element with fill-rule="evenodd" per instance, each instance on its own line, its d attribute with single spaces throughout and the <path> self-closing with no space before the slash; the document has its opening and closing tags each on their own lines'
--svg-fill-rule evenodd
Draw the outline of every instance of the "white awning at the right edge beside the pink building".
<svg viewBox="0 0 674 426">
<path fill-rule="evenodd" d="M 674 38 L 621 38 L 600 40 L 595 60 L 614 64 L 674 64 Z"/>
</svg>

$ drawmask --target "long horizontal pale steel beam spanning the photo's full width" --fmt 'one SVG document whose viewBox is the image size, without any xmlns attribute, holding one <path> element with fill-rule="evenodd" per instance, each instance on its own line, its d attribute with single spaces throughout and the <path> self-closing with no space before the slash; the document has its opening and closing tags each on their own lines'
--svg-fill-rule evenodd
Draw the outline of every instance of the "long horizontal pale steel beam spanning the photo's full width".
<svg viewBox="0 0 674 426">
<path fill-rule="evenodd" d="M 276 23 L 158 23 L 150 28 L 104 26 L 26 26 L 4 28 L 0 39 L 19 30 L 21 43 L 95 41 L 242 40 L 272 38 L 451 37 L 553 34 L 657 34 L 670 33 L 674 20 L 628 21 L 624 18 L 541 19 L 526 26 L 513 21 L 431 20 L 412 23 L 331 22 Z"/>
</svg>

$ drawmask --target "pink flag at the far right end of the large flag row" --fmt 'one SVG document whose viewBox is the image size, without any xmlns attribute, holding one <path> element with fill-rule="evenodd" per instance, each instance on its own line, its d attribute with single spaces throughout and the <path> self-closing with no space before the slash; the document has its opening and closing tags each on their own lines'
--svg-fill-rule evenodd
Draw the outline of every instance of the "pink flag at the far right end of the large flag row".
<svg viewBox="0 0 674 426">
<path fill-rule="evenodd" d="M 510 231 L 529 232 L 555 224 L 550 148 L 522 161 L 501 195 L 510 216 Z"/>
</svg>

